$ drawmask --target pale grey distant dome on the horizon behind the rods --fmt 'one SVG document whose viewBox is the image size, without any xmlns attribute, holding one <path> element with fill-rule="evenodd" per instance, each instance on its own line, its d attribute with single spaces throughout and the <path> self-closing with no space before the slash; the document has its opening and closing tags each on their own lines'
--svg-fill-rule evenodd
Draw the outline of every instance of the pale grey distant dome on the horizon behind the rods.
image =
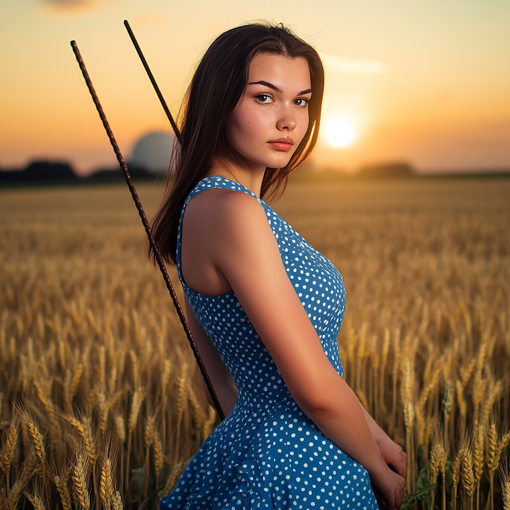
<svg viewBox="0 0 510 510">
<path fill-rule="evenodd" d="M 172 133 L 154 131 L 144 135 L 136 142 L 130 163 L 151 172 L 168 169 L 175 136 Z"/>
</svg>

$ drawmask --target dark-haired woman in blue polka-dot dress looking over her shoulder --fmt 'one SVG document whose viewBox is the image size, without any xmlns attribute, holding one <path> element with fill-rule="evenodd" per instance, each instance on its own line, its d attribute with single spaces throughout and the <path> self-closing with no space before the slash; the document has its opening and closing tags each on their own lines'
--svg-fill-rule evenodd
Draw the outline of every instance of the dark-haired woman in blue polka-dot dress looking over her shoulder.
<svg viewBox="0 0 510 510">
<path fill-rule="evenodd" d="M 162 509 L 377 508 L 371 483 L 401 503 L 405 454 L 342 379 L 342 277 L 262 201 L 313 150 L 323 88 L 309 44 L 256 23 L 220 35 L 188 89 L 153 228 L 228 415 Z"/>
</svg>

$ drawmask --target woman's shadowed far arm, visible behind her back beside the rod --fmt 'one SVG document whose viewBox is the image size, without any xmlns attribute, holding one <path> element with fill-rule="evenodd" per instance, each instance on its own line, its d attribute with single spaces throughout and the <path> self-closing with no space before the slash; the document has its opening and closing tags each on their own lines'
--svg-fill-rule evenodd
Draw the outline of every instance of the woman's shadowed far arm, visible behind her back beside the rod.
<svg viewBox="0 0 510 510">
<path fill-rule="evenodd" d="M 237 402 L 238 391 L 236 383 L 230 372 L 225 367 L 218 349 L 216 349 L 216 346 L 213 344 L 212 340 L 202 329 L 200 323 L 196 320 L 196 317 L 193 314 L 193 310 L 191 310 L 191 307 L 186 298 L 184 300 L 184 304 L 186 307 L 186 318 L 188 319 L 191 333 L 193 334 L 193 338 L 195 339 L 195 343 L 198 347 L 198 352 L 200 352 L 203 364 L 206 366 L 207 373 L 211 378 L 216 396 L 220 401 L 221 409 L 226 416 L 232 411 L 234 405 L 236 405 Z M 214 402 L 207 388 L 206 381 L 203 379 L 201 374 L 200 377 L 202 380 L 202 388 L 206 394 L 207 401 L 214 407 Z"/>
</svg>

